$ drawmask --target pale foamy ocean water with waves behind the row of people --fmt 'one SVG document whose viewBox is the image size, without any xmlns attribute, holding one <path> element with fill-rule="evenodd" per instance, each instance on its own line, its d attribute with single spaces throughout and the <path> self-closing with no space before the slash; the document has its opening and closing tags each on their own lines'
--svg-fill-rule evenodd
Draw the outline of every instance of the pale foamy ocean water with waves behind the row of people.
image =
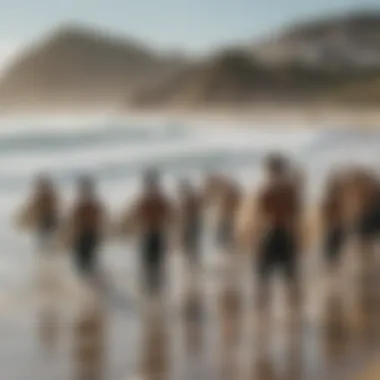
<svg viewBox="0 0 380 380">
<path fill-rule="evenodd" d="M 70 207 L 78 175 L 92 174 L 111 215 L 116 216 L 120 207 L 135 196 L 141 171 L 149 165 L 162 171 L 167 190 L 173 195 L 179 178 L 189 177 L 199 184 L 210 171 L 231 175 L 248 192 L 260 184 L 262 157 L 270 151 L 280 150 L 305 168 L 307 194 L 314 199 L 318 197 L 326 174 L 334 166 L 365 163 L 377 169 L 380 164 L 380 132 L 315 126 L 231 127 L 234 126 L 227 123 L 208 127 L 206 123 L 191 125 L 165 120 L 142 122 L 110 118 L 0 120 L 0 327 L 11 326 L 9 342 L 20 358 L 22 355 L 29 357 L 33 352 L 34 343 L 30 343 L 31 346 L 23 343 L 25 336 L 22 334 L 27 331 L 31 334 L 31 330 L 23 330 L 21 320 L 28 317 L 25 310 L 32 310 L 25 306 L 25 300 L 32 299 L 30 288 L 39 262 L 33 238 L 15 230 L 11 218 L 28 194 L 37 173 L 46 171 L 57 181 L 66 210 Z M 212 266 L 218 254 L 213 254 L 212 250 L 207 253 L 210 257 L 206 261 Z M 133 242 L 126 245 L 110 243 L 102 256 L 102 264 L 112 273 L 122 293 L 132 293 L 138 273 Z M 173 267 L 179 268 L 175 263 Z M 10 304 L 18 306 L 9 307 Z M 12 310 L 21 310 L 21 314 L 16 318 Z M 122 330 L 125 330 L 124 324 L 128 321 L 125 315 L 123 318 Z M 134 325 L 128 327 L 128 339 L 134 337 L 135 330 Z M 115 336 L 119 334 L 118 331 Z M 18 374 L 18 366 L 6 357 L 5 354 L 0 356 L 1 363 L 12 367 L 9 373 Z M 119 359 L 120 368 L 127 367 L 125 357 Z M 55 375 L 57 368 L 51 369 Z M 35 378 L 56 378 L 36 373 Z M 13 378 L 25 377 L 15 375 Z"/>
</svg>

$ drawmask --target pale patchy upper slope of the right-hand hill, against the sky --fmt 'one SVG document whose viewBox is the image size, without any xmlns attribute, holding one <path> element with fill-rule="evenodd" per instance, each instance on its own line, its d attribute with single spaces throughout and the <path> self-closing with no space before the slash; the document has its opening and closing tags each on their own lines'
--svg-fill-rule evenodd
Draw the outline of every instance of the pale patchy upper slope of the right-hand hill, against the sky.
<svg viewBox="0 0 380 380">
<path fill-rule="evenodd" d="M 380 12 L 339 14 L 292 25 L 245 49 L 267 64 L 379 66 Z"/>
</svg>

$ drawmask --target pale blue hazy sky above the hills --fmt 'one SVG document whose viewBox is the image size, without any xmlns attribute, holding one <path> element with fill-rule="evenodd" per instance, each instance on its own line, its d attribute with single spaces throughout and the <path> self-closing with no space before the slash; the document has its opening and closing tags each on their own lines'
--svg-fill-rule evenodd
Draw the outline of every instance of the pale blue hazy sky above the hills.
<svg viewBox="0 0 380 380">
<path fill-rule="evenodd" d="M 204 52 L 305 17 L 373 7 L 380 9 L 380 0 L 0 0 L 0 51 L 83 21 L 163 48 Z"/>
</svg>

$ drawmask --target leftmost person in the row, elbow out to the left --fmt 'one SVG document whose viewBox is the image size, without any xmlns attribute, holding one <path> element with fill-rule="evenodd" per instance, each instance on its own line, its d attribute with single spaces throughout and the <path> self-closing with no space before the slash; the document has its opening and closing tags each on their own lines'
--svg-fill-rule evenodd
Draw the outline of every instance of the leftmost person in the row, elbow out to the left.
<svg viewBox="0 0 380 380">
<path fill-rule="evenodd" d="M 17 216 L 17 225 L 36 232 L 40 250 L 50 247 L 59 223 L 59 199 L 53 181 L 40 175 L 33 193 Z"/>
</svg>

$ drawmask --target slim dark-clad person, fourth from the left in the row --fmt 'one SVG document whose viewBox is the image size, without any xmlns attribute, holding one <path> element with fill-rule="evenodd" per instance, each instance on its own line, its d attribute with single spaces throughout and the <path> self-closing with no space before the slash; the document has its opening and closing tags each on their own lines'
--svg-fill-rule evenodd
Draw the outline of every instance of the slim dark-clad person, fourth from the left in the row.
<svg viewBox="0 0 380 380">
<path fill-rule="evenodd" d="M 191 265 L 198 265 L 202 238 L 202 198 L 188 181 L 182 181 L 180 191 L 180 239 Z"/>
</svg>

